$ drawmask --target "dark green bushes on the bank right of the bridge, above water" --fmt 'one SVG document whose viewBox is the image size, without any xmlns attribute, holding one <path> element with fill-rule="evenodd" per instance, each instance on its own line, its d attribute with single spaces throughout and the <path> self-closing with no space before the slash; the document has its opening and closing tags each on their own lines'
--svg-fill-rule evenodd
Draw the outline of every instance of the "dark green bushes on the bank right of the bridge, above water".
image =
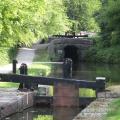
<svg viewBox="0 0 120 120">
<path fill-rule="evenodd" d="M 120 46 L 112 46 L 109 48 L 97 48 L 94 46 L 86 52 L 85 60 L 87 62 L 120 63 L 119 48 Z"/>
</svg>

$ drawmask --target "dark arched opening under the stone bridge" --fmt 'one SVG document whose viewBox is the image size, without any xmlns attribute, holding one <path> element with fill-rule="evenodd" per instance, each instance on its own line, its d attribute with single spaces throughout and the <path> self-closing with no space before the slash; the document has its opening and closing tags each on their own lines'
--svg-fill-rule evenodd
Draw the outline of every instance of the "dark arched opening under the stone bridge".
<svg viewBox="0 0 120 120">
<path fill-rule="evenodd" d="M 71 58 L 73 63 L 79 61 L 79 49 L 75 45 L 67 45 L 64 47 L 64 58 Z"/>
</svg>

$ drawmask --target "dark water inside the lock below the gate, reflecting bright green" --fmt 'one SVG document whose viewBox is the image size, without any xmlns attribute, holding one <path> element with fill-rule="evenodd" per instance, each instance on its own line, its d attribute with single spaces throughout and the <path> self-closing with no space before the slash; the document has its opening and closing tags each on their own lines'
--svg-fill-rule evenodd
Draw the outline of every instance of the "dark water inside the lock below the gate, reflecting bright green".
<svg viewBox="0 0 120 120">
<path fill-rule="evenodd" d="M 79 108 L 29 108 L 5 120 L 72 120 Z"/>
</svg>

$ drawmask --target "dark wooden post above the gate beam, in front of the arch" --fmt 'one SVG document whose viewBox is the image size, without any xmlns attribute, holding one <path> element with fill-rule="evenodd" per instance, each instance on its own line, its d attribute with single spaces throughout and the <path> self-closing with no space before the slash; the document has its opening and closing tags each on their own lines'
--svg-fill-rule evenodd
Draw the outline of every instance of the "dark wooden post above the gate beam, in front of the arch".
<svg viewBox="0 0 120 120">
<path fill-rule="evenodd" d="M 72 78 L 72 60 L 66 58 L 63 63 L 63 77 Z"/>
</svg>

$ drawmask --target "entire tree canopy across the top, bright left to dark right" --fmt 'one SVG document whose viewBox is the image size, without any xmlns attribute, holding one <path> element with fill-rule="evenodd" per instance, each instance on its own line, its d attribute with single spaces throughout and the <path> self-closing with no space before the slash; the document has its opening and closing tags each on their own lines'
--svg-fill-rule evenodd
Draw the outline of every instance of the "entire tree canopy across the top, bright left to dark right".
<svg viewBox="0 0 120 120">
<path fill-rule="evenodd" d="M 31 45 L 68 30 L 101 31 L 104 46 L 120 44 L 119 5 L 119 0 L 0 0 L 0 46 Z"/>
</svg>

